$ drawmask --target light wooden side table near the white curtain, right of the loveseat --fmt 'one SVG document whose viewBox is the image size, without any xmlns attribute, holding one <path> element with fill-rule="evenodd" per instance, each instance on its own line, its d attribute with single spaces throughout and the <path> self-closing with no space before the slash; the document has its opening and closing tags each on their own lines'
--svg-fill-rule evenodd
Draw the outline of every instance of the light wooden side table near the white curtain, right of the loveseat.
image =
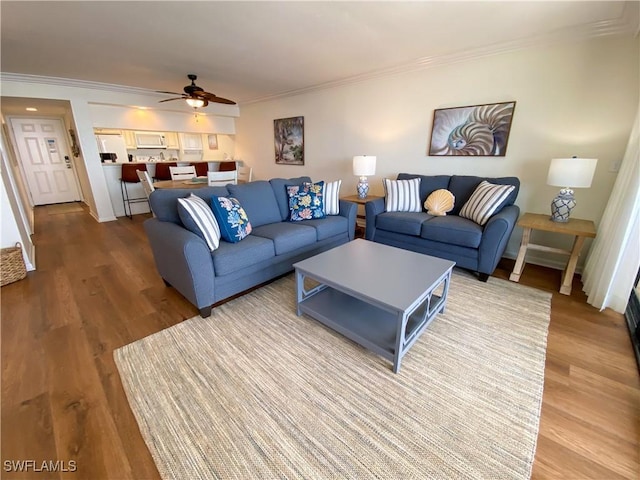
<svg viewBox="0 0 640 480">
<path fill-rule="evenodd" d="M 516 264 L 513 267 L 513 272 L 509 276 L 509 280 L 518 282 L 520 275 L 525 265 L 525 256 L 527 250 L 540 250 L 543 252 L 562 253 L 569 255 L 569 261 L 564 270 L 562 276 L 562 285 L 560 286 L 560 293 L 563 295 L 571 294 L 571 283 L 573 281 L 573 274 L 576 271 L 576 265 L 578 263 L 578 257 L 580 256 L 580 250 L 584 244 L 585 238 L 594 238 L 596 236 L 596 227 L 591 220 L 580 220 L 577 218 L 570 218 L 566 223 L 553 222 L 550 220 L 549 215 L 542 215 L 539 213 L 525 213 L 518 220 L 517 225 L 522 227 L 522 243 L 520 244 L 520 250 L 518 252 L 518 258 Z M 544 245 L 536 245 L 530 243 L 531 231 L 542 230 L 545 232 L 562 233 L 565 235 L 574 235 L 573 248 L 571 251 L 563 250 L 561 248 L 547 247 Z"/>
</svg>

